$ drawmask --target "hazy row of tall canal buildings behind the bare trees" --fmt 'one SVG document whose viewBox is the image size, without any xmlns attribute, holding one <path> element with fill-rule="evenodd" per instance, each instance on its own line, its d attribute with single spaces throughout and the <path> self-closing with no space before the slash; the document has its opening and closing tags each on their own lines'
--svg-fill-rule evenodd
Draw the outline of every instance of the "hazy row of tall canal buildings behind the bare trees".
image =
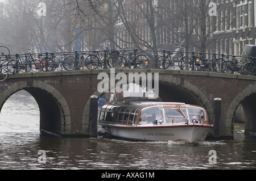
<svg viewBox="0 0 256 181">
<path fill-rule="evenodd" d="M 145 15 L 142 11 L 148 10 L 148 3 L 145 2 L 141 2 L 142 8 L 131 1 L 123 2 L 128 17 L 126 21 L 136 28 L 127 29 L 122 19 L 119 19 L 115 26 L 117 31 L 115 42 L 118 47 L 123 47 L 123 44 L 129 44 L 131 48 L 136 48 L 136 44 L 140 44 L 142 49 L 154 47 L 152 45 L 154 34 L 148 24 L 149 17 L 139 16 Z M 204 7 L 199 6 L 200 2 L 205 3 Z M 220 54 L 240 55 L 246 44 L 255 44 L 255 2 L 255 0 L 153 1 L 154 18 L 151 21 L 154 21 L 156 47 L 175 49 L 177 46 L 183 46 L 188 51 L 195 52 L 215 49 Z M 216 9 L 211 9 L 210 5 L 213 3 Z M 210 15 L 209 12 L 212 10 L 216 10 L 216 13 Z M 135 42 L 131 33 L 140 40 Z"/>
</svg>

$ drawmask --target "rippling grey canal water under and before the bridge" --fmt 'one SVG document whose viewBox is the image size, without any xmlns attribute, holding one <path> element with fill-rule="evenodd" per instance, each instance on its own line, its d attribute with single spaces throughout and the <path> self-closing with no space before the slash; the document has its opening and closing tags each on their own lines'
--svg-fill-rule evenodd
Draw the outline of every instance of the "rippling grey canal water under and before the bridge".
<svg viewBox="0 0 256 181">
<path fill-rule="evenodd" d="M 194 145 L 46 136 L 39 131 L 35 99 L 18 92 L 0 114 L 0 169 L 256 169 L 256 136 L 242 130 L 236 124 L 234 140 Z"/>
</svg>

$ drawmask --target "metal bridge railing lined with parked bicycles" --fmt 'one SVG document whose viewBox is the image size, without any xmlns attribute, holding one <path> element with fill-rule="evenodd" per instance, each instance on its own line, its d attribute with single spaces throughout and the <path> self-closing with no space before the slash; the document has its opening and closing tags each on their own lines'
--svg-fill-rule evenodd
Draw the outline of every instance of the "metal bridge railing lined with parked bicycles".
<svg viewBox="0 0 256 181">
<path fill-rule="evenodd" d="M 91 50 L 46 52 L 0 56 L 0 63 L 12 73 L 90 69 L 176 69 L 255 75 L 256 57 L 185 52 L 175 50 Z"/>
</svg>

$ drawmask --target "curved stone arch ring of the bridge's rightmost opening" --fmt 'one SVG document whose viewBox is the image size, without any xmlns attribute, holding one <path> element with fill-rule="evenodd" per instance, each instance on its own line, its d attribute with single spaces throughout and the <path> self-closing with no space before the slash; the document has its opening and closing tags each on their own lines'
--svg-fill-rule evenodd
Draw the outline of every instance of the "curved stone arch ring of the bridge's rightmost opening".
<svg viewBox="0 0 256 181">
<path fill-rule="evenodd" d="M 242 104 L 245 111 L 245 128 L 247 131 L 256 132 L 256 85 L 247 87 L 246 89 L 242 90 L 230 103 L 226 113 L 226 127 L 230 127 L 231 130 L 233 130 L 232 125 L 234 123 L 234 116 L 240 104 Z"/>
</svg>

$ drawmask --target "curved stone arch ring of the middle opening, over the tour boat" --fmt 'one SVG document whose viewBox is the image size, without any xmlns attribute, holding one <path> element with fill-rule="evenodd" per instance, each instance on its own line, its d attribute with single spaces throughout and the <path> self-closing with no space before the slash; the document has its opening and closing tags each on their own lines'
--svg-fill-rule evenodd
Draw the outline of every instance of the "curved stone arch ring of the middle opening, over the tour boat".
<svg viewBox="0 0 256 181">
<path fill-rule="evenodd" d="M 154 81 L 154 76 L 152 78 L 153 78 L 152 81 Z M 210 100 L 207 98 L 204 92 L 201 91 L 198 87 L 196 87 L 195 85 L 192 85 L 191 83 L 189 83 L 188 81 L 185 81 L 184 79 L 177 78 L 174 75 L 170 75 L 170 74 L 159 74 L 159 83 L 166 83 L 167 85 L 180 87 L 180 89 L 187 91 L 188 94 L 191 94 L 191 96 L 193 96 L 195 99 L 198 99 L 198 101 L 201 103 L 201 105 L 198 105 L 198 106 L 203 106 L 208 111 L 210 122 L 211 123 L 213 122 L 212 104 L 210 103 Z M 114 87 L 112 87 L 111 89 L 113 88 Z M 96 90 L 93 92 L 92 95 L 100 97 L 103 94 L 101 92 L 98 92 L 98 90 Z M 86 102 L 86 106 L 83 111 L 83 116 L 82 116 L 83 129 L 88 128 L 85 125 L 89 124 L 89 114 L 90 114 L 89 110 L 90 110 L 90 99 L 88 99 L 88 101 Z M 83 130 L 83 132 L 86 132 L 86 131 Z"/>
</svg>

